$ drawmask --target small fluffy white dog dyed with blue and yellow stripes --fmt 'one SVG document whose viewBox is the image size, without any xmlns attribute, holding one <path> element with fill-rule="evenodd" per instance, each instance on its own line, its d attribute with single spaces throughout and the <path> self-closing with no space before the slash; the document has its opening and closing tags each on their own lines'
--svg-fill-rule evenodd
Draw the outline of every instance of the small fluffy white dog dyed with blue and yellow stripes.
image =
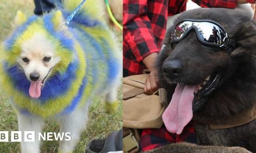
<svg viewBox="0 0 256 153">
<path fill-rule="evenodd" d="M 17 111 L 19 130 L 35 131 L 35 142 L 21 143 L 23 153 L 40 152 L 38 132 L 47 118 L 70 132 L 59 152 L 72 152 L 87 121 L 90 101 L 106 95 L 106 110 L 117 108 L 122 61 L 99 2 L 87 0 L 68 26 L 67 16 L 80 1 L 27 18 L 17 12 L 15 30 L 1 46 L 1 85 Z"/>
</svg>

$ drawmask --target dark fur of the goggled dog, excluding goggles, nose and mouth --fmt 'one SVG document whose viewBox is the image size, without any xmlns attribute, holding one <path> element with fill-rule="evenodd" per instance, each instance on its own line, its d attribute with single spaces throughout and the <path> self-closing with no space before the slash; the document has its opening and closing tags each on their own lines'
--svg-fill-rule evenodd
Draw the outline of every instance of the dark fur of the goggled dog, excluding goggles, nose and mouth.
<svg viewBox="0 0 256 153">
<path fill-rule="evenodd" d="M 244 12 L 228 9 L 196 9 L 181 14 L 175 24 L 183 19 L 209 19 L 221 24 L 229 38 L 236 41 L 236 49 L 226 50 L 205 48 L 195 32 L 190 32 L 175 46 L 170 46 L 170 35 L 175 27 L 166 32 L 162 49 L 157 59 L 159 81 L 168 90 L 170 101 L 176 84 L 198 84 L 213 72 L 222 77 L 218 89 L 208 96 L 204 105 L 193 112 L 202 121 L 223 123 L 234 115 L 256 106 L 256 24 Z M 179 59 L 184 65 L 182 82 L 180 78 L 168 81 L 163 75 L 165 60 Z M 193 102 L 194 103 L 194 102 Z M 194 106 L 193 106 L 194 107 Z M 211 130 L 207 125 L 195 126 L 197 146 L 189 144 L 170 144 L 153 152 L 256 152 L 256 120 L 235 128 Z M 202 147 L 211 145 L 212 147 Z M 226 147 L 213 147 L 213 146 Z M 243 147 L 243 148 L 233 148 Z M 177 149 L 179 148 L 179 149 Z M 181 149 L 182 148 L 182 149 Z M 207 149 L 208 148 L 208 149 Z M 246 148 L 246 150 L 244 150 Z"/>
</svg>

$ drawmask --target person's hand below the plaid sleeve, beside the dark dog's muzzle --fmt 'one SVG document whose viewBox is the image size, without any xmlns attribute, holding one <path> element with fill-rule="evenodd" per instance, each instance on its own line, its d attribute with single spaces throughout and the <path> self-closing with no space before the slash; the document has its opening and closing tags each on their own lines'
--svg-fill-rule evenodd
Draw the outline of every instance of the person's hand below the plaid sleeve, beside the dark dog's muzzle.
<svg viewBox="0 0 256 153">
<path fill-rule="evenodd" d="M 145 81 L 144 92 L 146 94 L 152 94 L 158 90 L 157 84 L 157 70 L 154 68 L 155 59 L 157 58 L 158 53 L 152 53 L 149 56 L 145 57 L 143 63 L 147 66 L 148 70 L 150 70 L 150 75 L 148 75 Z"/>
</svg>

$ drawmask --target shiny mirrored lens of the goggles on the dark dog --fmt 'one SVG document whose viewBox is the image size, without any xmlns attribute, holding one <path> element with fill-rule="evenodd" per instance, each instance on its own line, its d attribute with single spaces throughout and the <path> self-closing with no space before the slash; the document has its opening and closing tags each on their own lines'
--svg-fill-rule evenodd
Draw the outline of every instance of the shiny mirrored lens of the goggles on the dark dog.
<svg viewBox="0 0 256 153">
<path fill-rule="evenodd" d="M 175 41 L 182 38 L 183 35 L 186 33 L 187 29 L 189 29 L 193 25 L 197 27 L 197 32 L 200 37 L 198 39 L 201 39 L 201 41 L 217 45 L 224 44 L 226 32 L 221 27 L 219 27 L 219 25 L 205 21 L 183 21 L 182 23 L 176 26 L 175 31 L 172 34 L 171 41 Z"/>
</svg>

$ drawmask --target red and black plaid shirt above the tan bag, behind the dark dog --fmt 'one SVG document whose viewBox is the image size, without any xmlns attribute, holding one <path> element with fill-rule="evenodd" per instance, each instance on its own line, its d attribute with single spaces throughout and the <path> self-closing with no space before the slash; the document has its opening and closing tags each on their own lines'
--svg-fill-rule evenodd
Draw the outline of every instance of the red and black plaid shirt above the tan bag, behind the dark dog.
<svg viewBox="0 0 256 153">
<path fill-rule="evenodd" d="M 192 0 L 202 7 L 235 8 L 236 0 Z M 186 10 L 186 0 L 123 0 L 123 77 L 141 74 L 142 60 L 159 52 L 168 16 Z"/>
</svg>

